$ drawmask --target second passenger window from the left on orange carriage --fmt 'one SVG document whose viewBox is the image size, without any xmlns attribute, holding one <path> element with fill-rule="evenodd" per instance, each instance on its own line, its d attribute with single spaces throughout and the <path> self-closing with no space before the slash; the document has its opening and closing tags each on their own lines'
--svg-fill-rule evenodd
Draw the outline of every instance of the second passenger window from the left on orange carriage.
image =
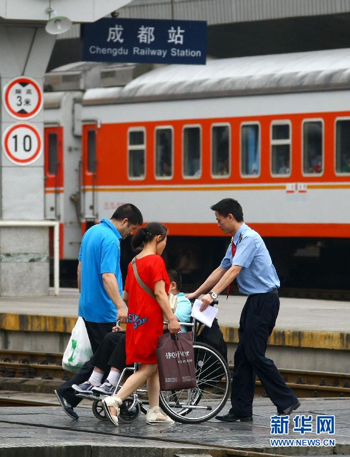
<svg viewBox="0 0 350 457">
<path fill-rule="evenodd" d="M 155 176 L 164 179 L 173 176 L 173 129 L 171 127 L 155 129 Z"/>
</svg>

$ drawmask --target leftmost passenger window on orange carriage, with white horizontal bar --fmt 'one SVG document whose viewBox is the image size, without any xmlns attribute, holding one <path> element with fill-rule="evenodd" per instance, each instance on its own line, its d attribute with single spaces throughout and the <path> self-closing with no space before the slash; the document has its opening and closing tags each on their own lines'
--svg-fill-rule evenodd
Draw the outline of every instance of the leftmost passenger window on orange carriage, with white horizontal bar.
<svg viewBox="0 0 350 457">
<path fill-rule="evenodd" d="M 129 130 L 129 178 L 143 179 L 145 177 L 145 131 Z"/>
</svg>

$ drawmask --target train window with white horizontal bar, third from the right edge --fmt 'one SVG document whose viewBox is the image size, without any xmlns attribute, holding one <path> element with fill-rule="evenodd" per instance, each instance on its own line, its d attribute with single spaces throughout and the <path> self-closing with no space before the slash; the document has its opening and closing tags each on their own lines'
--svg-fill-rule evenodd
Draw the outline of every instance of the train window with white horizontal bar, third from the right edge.
<svg viewBox="0 0 350 457">
<path fill-rule="evenodd" d="M 276 122 L 271 124 L 271 174 L 291 173 L 291 125 Z"/>
</svg>

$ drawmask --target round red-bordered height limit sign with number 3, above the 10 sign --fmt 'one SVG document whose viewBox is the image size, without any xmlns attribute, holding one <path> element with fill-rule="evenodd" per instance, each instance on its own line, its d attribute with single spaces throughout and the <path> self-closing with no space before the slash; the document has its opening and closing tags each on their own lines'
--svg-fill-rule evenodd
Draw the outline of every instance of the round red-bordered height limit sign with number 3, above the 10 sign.
<svg viewBox="0 0 350 457">
<path fill-rule="evenodd" d="M 3 105 L 10 116 L 16 119 L 31 119 L 43 106 L 40 85 L 29 76 L 11 79 L 3 90 Z"/>
</svg>

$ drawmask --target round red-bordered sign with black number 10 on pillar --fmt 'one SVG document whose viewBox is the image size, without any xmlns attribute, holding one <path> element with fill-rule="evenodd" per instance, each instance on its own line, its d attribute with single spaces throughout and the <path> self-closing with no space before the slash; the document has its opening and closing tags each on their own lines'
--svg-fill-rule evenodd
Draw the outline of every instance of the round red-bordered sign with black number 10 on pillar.
<svg viewBox="0 0 350 457">
<path fill-rule="evenodd" d="M 41 133 L 33 124 L 17 122 L 3 133 L 3 151 L 13 164 L 33 164 L 40 157 L 42 149 Z"/>
</svg>

